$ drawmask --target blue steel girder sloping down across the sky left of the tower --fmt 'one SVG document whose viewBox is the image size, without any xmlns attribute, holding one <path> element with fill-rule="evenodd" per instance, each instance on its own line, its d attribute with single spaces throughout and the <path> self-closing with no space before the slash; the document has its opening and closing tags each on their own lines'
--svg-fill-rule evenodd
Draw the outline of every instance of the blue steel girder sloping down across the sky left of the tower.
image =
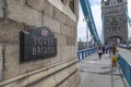
<svg viewBox="0 0 131 87">
<path fill-rule="evenodd" d="M 94 18 L 93 18 L 93 14 L 92 14 L 90 2 L 88 2 L 88 0 L 80 0 L 80 2 L 81 2 L 81 5 L 82 5 L 82 10 L 83 10 L 84 16 L 86 18 L 88 18 L 87 25 L 88 25 L 91 35 L 94 36 L 93 38 L 94 38 L 95 41 L 100 44 L 98 34 L 96 32 L 96 26 L 95 26 L 95 23 L 94 23 Z"/>
</svg>

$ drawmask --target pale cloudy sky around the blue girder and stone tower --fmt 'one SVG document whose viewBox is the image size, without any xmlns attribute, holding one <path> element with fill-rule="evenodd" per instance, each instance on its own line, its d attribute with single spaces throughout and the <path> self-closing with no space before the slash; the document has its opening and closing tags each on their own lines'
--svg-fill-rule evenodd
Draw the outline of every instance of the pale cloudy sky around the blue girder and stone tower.
<svg viewBox="0 0 131 87">
<path fill-rule="evenodd" d="M 102 36 L 102 11 L 100 11 L 100 1 L 102 0 L 90 0 L 92 13 L 94 17 L 94 22 L 97 28 L 98 36 Z M 81 39 L 82 41 L 86 41 L 86 21 L 84 20 L 84 15 L 82 12 L 81 4 L 79 5 L 79 24 L 78 24 L 78 41 Z M 128 0 L 128 13 L 131 17 L 131 0 Z M 131 33 L 131 28 L 130 28 Z M 88 39 L 91 39 L 91 34 L 88 33 Z"/>
</svg>

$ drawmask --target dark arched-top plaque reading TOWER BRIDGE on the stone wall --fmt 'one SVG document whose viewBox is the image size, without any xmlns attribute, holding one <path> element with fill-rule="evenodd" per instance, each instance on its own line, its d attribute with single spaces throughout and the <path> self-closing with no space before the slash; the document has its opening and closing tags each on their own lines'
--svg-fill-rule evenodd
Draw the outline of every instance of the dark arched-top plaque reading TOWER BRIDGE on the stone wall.
<svg viewBox="0 0 131 87">
<path fill-rule="evenodd" d="M 45 26 L 20 33 L 20 62 L 57 55 L 57 38 Z"/>
</svg>

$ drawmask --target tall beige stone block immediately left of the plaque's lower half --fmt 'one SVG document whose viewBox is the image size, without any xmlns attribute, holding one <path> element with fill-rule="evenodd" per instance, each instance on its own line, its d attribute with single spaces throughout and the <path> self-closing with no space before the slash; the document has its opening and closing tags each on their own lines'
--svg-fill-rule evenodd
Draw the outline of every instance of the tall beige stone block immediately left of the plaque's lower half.
<svg viewBox="0 0 131 87">
<path fill-rule="evenodd" d="M 20 73 L 20 52 L 19 45 L 7 45 L 4 53 L 3 79 L 19 75 Z"/>
</svg>

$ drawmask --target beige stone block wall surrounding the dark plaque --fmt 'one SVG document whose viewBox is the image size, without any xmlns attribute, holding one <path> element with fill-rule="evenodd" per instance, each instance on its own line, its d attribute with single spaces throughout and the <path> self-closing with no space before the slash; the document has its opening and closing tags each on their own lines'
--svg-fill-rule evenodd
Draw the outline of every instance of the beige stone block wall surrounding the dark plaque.
<svg viewBox="0 0 131 87">
<path fill-rule="evenodd" d="M 61 0 L 0 0 L 0 87 L 79 87 L 76 24 Z M 57 57 L 21 63 L 20 32 L 34 25 L 55 34 Z"/>
</svg>

